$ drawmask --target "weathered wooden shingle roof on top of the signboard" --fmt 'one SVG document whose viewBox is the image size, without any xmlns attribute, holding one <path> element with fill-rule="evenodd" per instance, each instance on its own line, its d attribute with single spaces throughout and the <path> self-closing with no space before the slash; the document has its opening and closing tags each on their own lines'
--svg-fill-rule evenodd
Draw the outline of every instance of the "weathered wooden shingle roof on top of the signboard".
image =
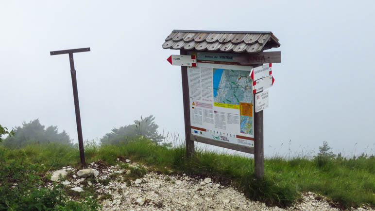
<svg viewBox="0 0 375 211">
<path fill-rule="evenodd" d="M 272 32 L 173 30 L 164 49 L 222 53 L 258 53 L 280 47 Z"/>
</svg>

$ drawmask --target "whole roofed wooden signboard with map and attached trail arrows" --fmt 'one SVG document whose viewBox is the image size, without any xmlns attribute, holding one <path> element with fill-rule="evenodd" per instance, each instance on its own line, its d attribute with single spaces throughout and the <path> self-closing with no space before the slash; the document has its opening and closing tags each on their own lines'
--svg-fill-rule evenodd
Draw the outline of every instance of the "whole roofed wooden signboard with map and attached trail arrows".
<svg viewBox="0 0 375 211">
<path fill-rule="evenodd" d="M 263 178 L 264 89 L 273 84 L 271 63 L 281 62 L 280 52 L 263 51 L 280 47 L 276 36 L 173 30 L 162 47 L 180 50 L 180 57 L 168 61 L 181 66 L 187 157 L 194 154 L 195 141 L 251 153 L 256 177 Z"/>
</svg>

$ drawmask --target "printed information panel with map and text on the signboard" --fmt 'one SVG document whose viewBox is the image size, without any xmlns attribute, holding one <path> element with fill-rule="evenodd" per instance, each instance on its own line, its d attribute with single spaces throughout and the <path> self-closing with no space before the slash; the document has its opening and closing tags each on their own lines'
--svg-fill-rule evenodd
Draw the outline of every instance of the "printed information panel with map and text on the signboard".
<svg viewBox="0 0 375 211">
<path fill-rule="evenodd" d="M 251 69 L 207 63 L 187 68 L 191 134 L 254 147 Z"/>
</svg>

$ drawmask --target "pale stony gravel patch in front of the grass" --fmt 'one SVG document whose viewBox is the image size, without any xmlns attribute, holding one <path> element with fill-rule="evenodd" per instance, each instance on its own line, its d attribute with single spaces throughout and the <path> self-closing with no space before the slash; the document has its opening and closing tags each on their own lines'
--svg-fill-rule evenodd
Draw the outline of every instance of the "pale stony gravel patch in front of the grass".
<svg viewBox="0 0 375 211">
<path fill-rule="evenodd" d="M 126 161 L 125 161 L 126 162 Z M 128 162 L 129 163 L 129 162 Z M 130 166 L 140 167 L 140 164 L 129 163 Z M 98 163 L 89 164 L 90 168 L 97 168 Z M 142 166 L 147 169 L 147 166 Z M 66 167 L 63 170 L 77 170 Z M 110 175 L 119 173 L 116 178 Z M 111 178 L 108 184 L 91 184 L 96 189 L 99 197 L 110 194 L 110 199 L 103 200 L 102 210 L 105 211 L 202 211 L 202 210 L 262 210 L 262 211 L 284 211 L 284 210 L 308 210 L 308 211 L 339 211 L 332 206 L 325 197 L 315 193 L 303 193 L 302 202 L 282 209 L 268 207 L 265 203 L 252 201 L 238 192 L 235 188 L 215 182 L 211 178 L 190 177 L 184 175 L 163 175 L 149 172 L 142 178 L 134 181 L 124 181 L 127 170 L 119 168 L 119 165 L 100 169 L 96 181 Z M 64 181 L 69 187 L 74 185 L 79 178 L 70 177 L 70 183 Z M 74 186 L 72 186 L 74 187 Z M 362 207 L 352 210 L 372 210 Z"/>
</svg>

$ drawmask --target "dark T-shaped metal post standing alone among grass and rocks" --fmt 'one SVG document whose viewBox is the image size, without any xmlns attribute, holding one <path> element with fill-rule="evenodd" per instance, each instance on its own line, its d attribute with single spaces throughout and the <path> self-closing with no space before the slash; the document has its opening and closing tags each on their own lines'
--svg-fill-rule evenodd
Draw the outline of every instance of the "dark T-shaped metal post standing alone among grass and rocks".
<svg viewBox="0 0 375 211">
<path fill-rule="evenodd" d="M 70 62 L 70 74 L 71 74 L 71 82 L 73 86 L 73 97 L 74 97 L 74 108 L 75 108 L 75 118 L 77 122 L 77 132 L 78 132 L 78 145 L 80 149 L 80 158 L 81 164 L 85 165 L 85 150 L 84 150 L 84 141 L 82 137 L 82 125 L 81 125 L 81 114 L 80 114 L 80 105 L 78 101 L 78 88 L 77 88 L 77 77 L 76 77 L 76 70 L 74 69 L 74 59 L 73 53 L 80 53 L 80 52 L 88 52 L 90 48 L 80 48 L 80 49 L 69 49 L 63 51 L 51 51 L 51 55 L 59 55 L 59 54 L 69 54 L 69 62 Z"/>
</svg>

